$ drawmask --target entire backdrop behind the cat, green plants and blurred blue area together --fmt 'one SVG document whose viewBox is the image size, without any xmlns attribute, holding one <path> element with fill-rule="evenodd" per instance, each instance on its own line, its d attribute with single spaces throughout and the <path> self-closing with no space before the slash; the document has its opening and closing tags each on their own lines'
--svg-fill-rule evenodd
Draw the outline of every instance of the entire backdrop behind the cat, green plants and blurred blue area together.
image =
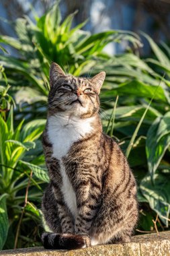
<svg viewBox="0 0 170 256">
<path fill-rule="evenodd" d="M 103 131 L 138 185 L 134 234 L 170 225 L 170 0 L 0 1 L 0 249 L 41 246 L 42 150 L 52 61 L 106 72 Z"/>
</svg>

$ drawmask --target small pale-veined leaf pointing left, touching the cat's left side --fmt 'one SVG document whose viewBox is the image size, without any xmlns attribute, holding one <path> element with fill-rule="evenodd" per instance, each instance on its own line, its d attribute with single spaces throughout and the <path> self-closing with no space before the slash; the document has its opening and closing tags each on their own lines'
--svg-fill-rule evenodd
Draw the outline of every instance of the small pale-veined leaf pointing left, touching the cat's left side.
<svg viewBox="0 0 170 256">
<path fill-rule="evenodd" d="M 36 166 L 35 164 L 30 164 L 29 162 L 24 162 L 22 160 L 19 160 L 19 162 L 28 166 L 28 168 L 32 170 L 32 172 L 38 179 L 40 179 L 40 181 L 45 181 L 46 183 L 49 183 L 50 179 L 48 177 L 48 172 L 46 168 L 42 168 L 40 166 Z"/>
</svg>

